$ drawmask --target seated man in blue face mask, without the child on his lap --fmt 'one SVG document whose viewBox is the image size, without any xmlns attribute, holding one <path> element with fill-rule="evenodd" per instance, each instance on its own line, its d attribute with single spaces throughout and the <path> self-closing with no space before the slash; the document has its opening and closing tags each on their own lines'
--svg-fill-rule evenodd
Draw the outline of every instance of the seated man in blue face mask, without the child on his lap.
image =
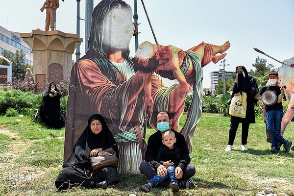
<svg viewBox="0 0 294 196">
<path fill-rule="evenodd" d="M 182 134 L 170 128 L 172 120 L 170 114 L 167 111 L 160 111 L 156 117 L 157 129 L 155 133 L 150 135 L 147 144 L 147 151 L 145 154 L 145 162 L 140 165 L 140 172 L 144 174 L 148 179 L 153 178 L 156 174 L 165 176 L 168 174 L 166 166 L 160 164 L 157 161 L 157 154 L 160 147 L 164 146 L 162 143 L 162 134 L 167 130 L 171 130 L 176 138 L 176 147 L 180 150 L 179 164 L 174 170 L 175 178 L 178 180 L 180 188 L 191 189 L 191 181 L 188 180 L 195 175 L 195 167 L 190 165 L 190 156 L 187 143 Z M 173 165 L 168 163 L 167 165 Z M 158 185 L 161 186 L 172 186 L 170 178 L 167 178 L 160 182 Z"/>
</svg>

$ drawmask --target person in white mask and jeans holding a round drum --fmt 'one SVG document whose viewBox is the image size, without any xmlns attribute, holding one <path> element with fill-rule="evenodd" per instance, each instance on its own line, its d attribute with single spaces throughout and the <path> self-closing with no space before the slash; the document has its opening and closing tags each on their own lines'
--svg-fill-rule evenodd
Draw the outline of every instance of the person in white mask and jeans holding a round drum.
<svg viewBox="0 0 294 196">
<path fill-rule="evenodd" d="M 283 118 L 282 100 L 286 86 L 277 86 L 277 72 L 269 73 L 270 86 L 265 86 L 256 97 L 266 105 L 266 129 L 272 135 L 271 154 L 276 154 L 278 143 L 284 145 L 284 151 L 289 152 L 292 142 L 281 136 L 281 122 Z M 261 96 L 260 96 L 261 95 Z"/>
</svg>

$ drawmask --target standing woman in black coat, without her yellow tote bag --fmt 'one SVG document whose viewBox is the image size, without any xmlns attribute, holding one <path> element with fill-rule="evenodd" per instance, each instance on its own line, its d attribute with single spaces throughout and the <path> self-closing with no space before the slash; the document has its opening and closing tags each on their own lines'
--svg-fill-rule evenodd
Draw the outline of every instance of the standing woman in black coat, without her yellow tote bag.
<svg viewBox="0 0 294 196">
<path fill-rule="evenodd" d="M 231 116 L 231 125 L 229 131 L 229 141 L 225 151 L 231 151 L 232 146 L 236 137 L 237 129 L 240 123 L 242 123 L 242 141 L 241 149 L 242 151 L 248 150 L 246 147 L 249 124 L 255 123 L 255 113 L 254 113 L 254 104 L 257 103 L 255 96 L 258 93 L 257 83 L 254 77 L 249 76 L 246 68 L 244 66 L 236 67 L 236 80 L 233 88 L 233 95 L 240 95 L 242 92 L 247 94 L 247 109 L 246 117 L 234 117 Z"/>
</svg>

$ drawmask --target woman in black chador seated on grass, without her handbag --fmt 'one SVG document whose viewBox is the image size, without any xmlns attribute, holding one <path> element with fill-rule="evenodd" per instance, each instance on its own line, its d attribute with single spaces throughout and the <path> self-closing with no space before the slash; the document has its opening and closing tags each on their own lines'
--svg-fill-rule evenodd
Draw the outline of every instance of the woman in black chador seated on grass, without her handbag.
<svg viewBox="0 0 294 196">
<path fill-rule="evenodd" d="M 117 169 L 104 167 L 93 171 L 89 157 L 108 156 L 105 149 L 112 147 L 119 158 L 116 141 L 100 114 L 92 115 L 88 126 L 76 141 L 70 157 L 63 164 L 63 169 L 55 181 L 58 190 L 84 186 L 88 188 L 103 188 L 111 183 L 120 182 Z"/>
</svg>

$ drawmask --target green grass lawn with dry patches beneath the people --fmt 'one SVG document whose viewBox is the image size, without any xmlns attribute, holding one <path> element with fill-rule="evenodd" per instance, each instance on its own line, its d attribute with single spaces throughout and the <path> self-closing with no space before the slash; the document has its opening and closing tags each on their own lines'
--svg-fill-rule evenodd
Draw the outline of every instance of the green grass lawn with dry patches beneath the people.
<svg viewBox="0 0 294 196">
<path fill-rule="evenodd" d="M 181 118 L 180 126 L 185 121 Z M 193 139 L 191 164 L 196 174 L 192 190 L 153 188 L 140 191 L 146 183 L 142 174 L 120 174 L 121 183 L 106 190 L 76 188 L 56 192 L 54 181 L 62 169 L 64 128 L 48 129 L 27 117 L 0 116 L 0 195 L 18 196 L 255 196 L 265 187 L 275 193 L 294 196 L 294 151 L 270 154 L 265 123 L 257 120 L 249 127 L 248 151 L 241 151 L 238 129 L 232 151 L 225 152 L 230 119 L 218 114 L 202 114 Z M 294 141 L 294 124 L 285 138 Z M 154 132 L 147 130 L 147 137 Z M 19 190 L 17 190 L 19 189 Z"/>
</svg>

